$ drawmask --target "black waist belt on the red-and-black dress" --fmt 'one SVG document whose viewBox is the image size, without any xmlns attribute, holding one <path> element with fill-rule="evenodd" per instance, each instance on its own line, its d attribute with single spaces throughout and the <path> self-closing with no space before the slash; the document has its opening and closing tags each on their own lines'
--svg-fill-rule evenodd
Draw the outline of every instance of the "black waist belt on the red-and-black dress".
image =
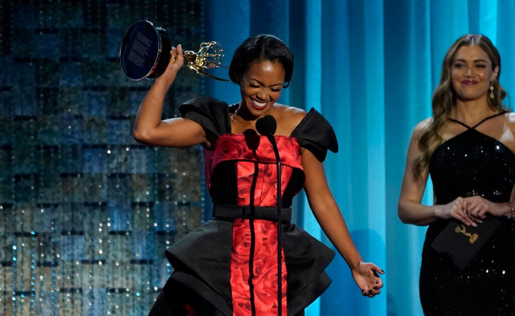
<svg viewBox="0 0 515 316">
<path fill-rule="evenodd" d="M 213 205 L 213 218 L 254 218 L 277 221 L 277 208 L 274 207 L 250 207 L 237 205 Z M 291 209 L 281 209 L 281 221 L 291 220 Z"/>
</svg>

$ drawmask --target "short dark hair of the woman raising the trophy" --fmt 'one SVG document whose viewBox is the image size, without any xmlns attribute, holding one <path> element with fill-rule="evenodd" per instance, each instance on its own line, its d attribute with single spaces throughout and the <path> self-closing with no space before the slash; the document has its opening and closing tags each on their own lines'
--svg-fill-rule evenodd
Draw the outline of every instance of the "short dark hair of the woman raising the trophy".
<svg viewBox="0 0 515 316">
<path fill-rule="evenodd" d="M 270 34 L 259 34 L 246 39 L 236 48 L 229 66 L 229 78 L 239 84 L 242 75 L 255 61 L 279 62 L 284 67 L 284 88 L 293 75 L 293 55 L 283 41 Z"/>
</svg>

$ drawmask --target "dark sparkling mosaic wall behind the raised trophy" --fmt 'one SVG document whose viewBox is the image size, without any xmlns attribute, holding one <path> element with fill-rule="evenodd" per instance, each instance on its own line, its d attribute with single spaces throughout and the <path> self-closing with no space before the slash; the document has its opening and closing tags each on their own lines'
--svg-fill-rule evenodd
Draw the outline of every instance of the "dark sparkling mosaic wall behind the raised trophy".
<svg viewBox="0 0 515 316">
<path fill-rule="evenodd" d="M 0 3 L 0 315 L 143 315 L 166 246 L 201 224 L 201 149 L 132 138 L 150 80 L 118 62 L 138 20 L 196 50 L 203 2 Z M 163 117 L 200 95 L 183 70 Z"/>
</svg>

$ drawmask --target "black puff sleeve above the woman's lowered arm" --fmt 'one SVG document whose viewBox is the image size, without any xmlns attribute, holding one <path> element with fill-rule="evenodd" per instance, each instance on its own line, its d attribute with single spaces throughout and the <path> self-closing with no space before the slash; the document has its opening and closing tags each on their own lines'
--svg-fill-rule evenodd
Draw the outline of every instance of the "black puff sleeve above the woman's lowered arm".
<svg viewBox="0 0 515 316">
<path fill-rule="evenodd" d="M 329 149 L 338 152 L 338 141 L 331 124 L 314 108 L 300 121 L 291 132 L 291 137 L 299 140 L 299 145 L 312 152 L 319 160 L 324 161 Z"/>
</svg>

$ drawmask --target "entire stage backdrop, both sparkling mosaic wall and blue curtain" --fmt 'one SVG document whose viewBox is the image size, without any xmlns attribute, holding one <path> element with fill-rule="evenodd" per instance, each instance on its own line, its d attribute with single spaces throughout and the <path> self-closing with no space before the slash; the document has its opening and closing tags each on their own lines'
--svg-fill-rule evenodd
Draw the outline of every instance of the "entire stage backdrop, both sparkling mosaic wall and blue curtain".
<svg viewBox="0 0 515 316">
<path fill-rule="evenodd" d="M 200 148 L 131 137 L 150 82 L 128 81 L 116 58 L 124 30 L 148 19 L 186 49 L 220 42 L 227 63 L 249 35 L 289 44 L 296 64 L 281 101 L 315 107 L 333 125 L 331 189 L 364 259 L 386 271 L 383 293 L 363 298 L 337 256 L 333 284 L 306 315 L 422 315 L 425 228 L 397 216 L 409 136 L 431 115 L 443 56 L 462 34 L 490 37 L 513 93 L 514 14 L 507 0 L 3 1 L 0 314 L 145 314 L 170 273 L 166 245 L 209 218 Z M 164 116 L 201 94 L 239 100 L 236 85 L 184 69 Z M 303 196 L 295 210 L 329 244 Z"/>
</svg>

